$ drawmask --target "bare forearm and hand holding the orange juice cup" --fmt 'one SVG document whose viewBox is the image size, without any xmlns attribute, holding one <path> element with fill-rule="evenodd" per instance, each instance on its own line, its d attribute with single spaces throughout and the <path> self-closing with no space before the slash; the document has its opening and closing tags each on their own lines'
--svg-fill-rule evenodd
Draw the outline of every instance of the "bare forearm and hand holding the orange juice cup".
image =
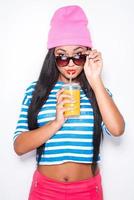
<svg viewBox="0 0 134 200">
<path fill-rule="evenodd" d="M 55 120 L 50 121 L 46 125 L 31 131 L 22 132 L 14 141 L 14 150 L 18 155 L 22 155 L 29 151 L 32 151 L 42 144 L 44 144 L 49 138 L 51 138 L 64 124 L 67 118 L 64 117 L 64 112 L 71 108 L 65 108 L 65 103 L 72 102 L 70 95 L 64 95 L 64 89 L 57 92 L 57 105 Z M 68 100 L 64 98 L 67 97 Z"/>
</svg>

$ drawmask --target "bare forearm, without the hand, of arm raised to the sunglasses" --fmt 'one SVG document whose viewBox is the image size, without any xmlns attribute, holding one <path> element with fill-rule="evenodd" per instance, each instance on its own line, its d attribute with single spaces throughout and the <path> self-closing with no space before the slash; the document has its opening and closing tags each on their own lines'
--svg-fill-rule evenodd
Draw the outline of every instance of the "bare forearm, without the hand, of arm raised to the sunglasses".
<svg viewBox="0 0 134 200">
<path fill-rule="evenodd" d="M 114 136 L 122 135 L 125 129 L 124 119 L 100 78 L 94 81 L 92 89 L 94 90 L 102 119 L 107 129 Z"/>
</svg>

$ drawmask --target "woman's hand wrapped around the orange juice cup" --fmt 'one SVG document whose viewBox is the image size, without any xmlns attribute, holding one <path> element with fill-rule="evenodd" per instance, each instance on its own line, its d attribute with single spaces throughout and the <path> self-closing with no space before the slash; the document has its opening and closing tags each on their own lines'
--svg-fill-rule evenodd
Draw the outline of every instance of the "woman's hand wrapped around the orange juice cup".
<svg viewBox="0 0 134 200">
<path fill-rule="evenodd" d="M 64 117 L 64 112 L 66 110 L 71 110 L 71 108 L 65 108 L 65 103 L 71 103 L 73 101 L 71 95 L 64 94 L 64 89 L 62 88 L 59 90 L 56 94 L 57 104 L 56 104 L 56 118 L 55 121 L 58 123 L 58 125 L 62 126 L 64 122 L 67 120 L 66 117 Z"/>
</svg>

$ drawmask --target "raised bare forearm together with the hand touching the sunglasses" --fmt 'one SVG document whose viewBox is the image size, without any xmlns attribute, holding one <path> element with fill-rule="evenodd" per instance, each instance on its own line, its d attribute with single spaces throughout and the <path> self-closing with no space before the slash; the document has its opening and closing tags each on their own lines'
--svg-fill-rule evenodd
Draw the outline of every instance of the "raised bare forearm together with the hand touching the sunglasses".
<svg viewBox="0 0 134 200">
<path fill-rule="evenodd" d="M 120 136 L 124 132 L 125 123 L 113 99 L 103 85 L 101 79 L 103 67 L 101 53 L 97 50 L 92 50 L 87 51 L 87 54 L 89 56 L 87 56 L 84 72 L 95 93 L 103 122 L 112 135 Z"/>
</svg>

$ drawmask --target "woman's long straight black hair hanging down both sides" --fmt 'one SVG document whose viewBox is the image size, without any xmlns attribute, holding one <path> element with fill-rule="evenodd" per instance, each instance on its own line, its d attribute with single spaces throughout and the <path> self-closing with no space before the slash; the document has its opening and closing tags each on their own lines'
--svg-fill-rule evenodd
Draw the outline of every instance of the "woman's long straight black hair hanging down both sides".
<svg viewBox="0 0 134 200">
<path fill-rule="evenodd" d="M 29 130 L 38 128 L 37 115 L 48 99 L 49 93 L 59 78 L 59 71 L 55 63 L 54 48 L 50 49 L 44 60 L 35 90 L 32 95 L 31 104 L 28 109 L 28 127 Z M 102 138 L 101 122 L 102 117 L 96 101 L 94 91 L 90 87 L 84 71 L 78 76 L 78 81 L 86 96 L 90 99 L 94 114 L 94 134 L 93 134 L 93 163 L 92 172 L 95 174 L 97 160 L 99 156 L 100 142 Z M 43 153 L 44 144 L 37 148 L 38 163 Z"/>
</svg>

